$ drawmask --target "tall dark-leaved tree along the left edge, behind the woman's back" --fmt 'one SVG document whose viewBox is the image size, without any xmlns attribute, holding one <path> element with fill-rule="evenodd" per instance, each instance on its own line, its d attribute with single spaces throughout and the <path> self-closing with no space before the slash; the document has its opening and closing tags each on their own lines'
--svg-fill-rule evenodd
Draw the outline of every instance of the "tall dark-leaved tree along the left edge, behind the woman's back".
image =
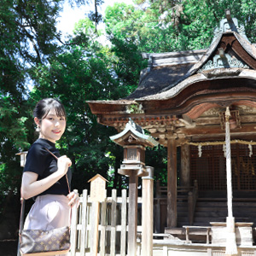
<svg viewBox="0 0 256 256">
<path fill-rule="evenodd" d="M 0 224 L 7 201 L 19 198 L 22 169 L 15 154 L 34 141 L 30 73 L 61 53 L 56 29 L 64 0 L 3 0 L 0 5 Z M 70 0 L 84 4 L 87 0 Z M 13 205 L 15 212 L 15 204 Z M 5 215 L 6 216 L 6 215 Z"/>
</svg>

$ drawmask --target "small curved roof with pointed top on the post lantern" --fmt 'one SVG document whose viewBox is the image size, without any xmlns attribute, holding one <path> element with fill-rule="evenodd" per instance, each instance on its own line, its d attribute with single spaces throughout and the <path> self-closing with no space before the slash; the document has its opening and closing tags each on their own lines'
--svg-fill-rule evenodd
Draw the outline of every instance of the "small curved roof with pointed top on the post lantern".
<svg viewBox="0 0 256 256">
<path fill-rule="evenodd" d="M 143 128 L 133 122 L 132 119 L 129 119 L 128 123 L 125 125 L 124 131 L 110 137 L 110 139 L 122 147 L 126 145 L 142 145 L 153 148 L 159 144 L 153 137 L 144 134 Z"/>
</svg>

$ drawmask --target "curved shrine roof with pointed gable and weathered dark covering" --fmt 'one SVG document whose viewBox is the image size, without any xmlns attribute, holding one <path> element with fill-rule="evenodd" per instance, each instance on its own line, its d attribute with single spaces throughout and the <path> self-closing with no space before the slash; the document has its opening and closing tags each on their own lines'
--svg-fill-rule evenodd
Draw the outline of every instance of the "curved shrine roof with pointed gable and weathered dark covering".
<svg viewBox="0 0 256 256">
<path fill-rule="evenodd" d="M 147 109 L 161 109 L 163 101 L 168 105 L 174 97 L 182 96 L 186 88 L 188 91 L 183 95 L 188 96 L 189 91 L 195 91 L 189 86 L 206 84 L 212 79 L 233 78 L 240 79 L 241 84 L 246 80 L 247 84 L 255 84 L 252 82 L 256 80 L 255 44 L 248 41 L 236 18 L 234 26 L 227 26 L 229 22 L 226 19 L 220 22 L 208 49 L 143 54 L 148 59 L 148 67 L 142 71 L 137 89 L 117 101 L 90 101 L 91 111 L 96 114 L 129 114 L 129 106 L 137 105 L 142 108 L 142 113 L 146 113 Z M 222 67 L 216 65 L 218 61 L 223 61 Z M 230 61 L 226 62 L 228 66 L 224 61 Z M 152 106 L 149 108 L 148 105 Z"/>
</svg>

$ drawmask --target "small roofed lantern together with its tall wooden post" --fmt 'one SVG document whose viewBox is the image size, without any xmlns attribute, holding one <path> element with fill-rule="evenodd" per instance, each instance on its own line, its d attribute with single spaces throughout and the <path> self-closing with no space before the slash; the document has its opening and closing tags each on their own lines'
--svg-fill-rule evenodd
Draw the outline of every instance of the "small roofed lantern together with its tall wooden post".
<svg viewBox="0 0 256 256">
<path fill-rule="evenodd" d="M 119 174 L 129 177 L 129 212 L 128 212 L 128 252 L 129 256 L 137 255 L 137 183 L 138 176 L 148 176 L 145 166 L 145 148 L 153 148 L 158 143 L 153 137 L 144 134 L 143 128 L 131 119 L 125 130 L 110 137 L 124 148 L 124 160 Z"/>
</svg>

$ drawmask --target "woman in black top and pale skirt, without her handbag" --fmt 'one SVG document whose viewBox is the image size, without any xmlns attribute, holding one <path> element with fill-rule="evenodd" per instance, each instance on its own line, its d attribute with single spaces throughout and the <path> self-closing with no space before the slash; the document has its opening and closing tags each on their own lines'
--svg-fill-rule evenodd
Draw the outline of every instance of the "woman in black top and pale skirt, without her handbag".
<svg viewBox="0 0 256 256">
<path fill-rule="evenodd" d="M 51 230 L 70 225 L 70 207 L 79 201 L 77 193 L 68 192 L 72 162 L 55 148 L 66 129 L 66 112 L 61 102 L 46 98 L 38 102 L 33 114 L 39 138 L 26 156 L 21 195 L 25 199 L 36 197 L 36 201 L 24 229 Z"/>
</svg>

